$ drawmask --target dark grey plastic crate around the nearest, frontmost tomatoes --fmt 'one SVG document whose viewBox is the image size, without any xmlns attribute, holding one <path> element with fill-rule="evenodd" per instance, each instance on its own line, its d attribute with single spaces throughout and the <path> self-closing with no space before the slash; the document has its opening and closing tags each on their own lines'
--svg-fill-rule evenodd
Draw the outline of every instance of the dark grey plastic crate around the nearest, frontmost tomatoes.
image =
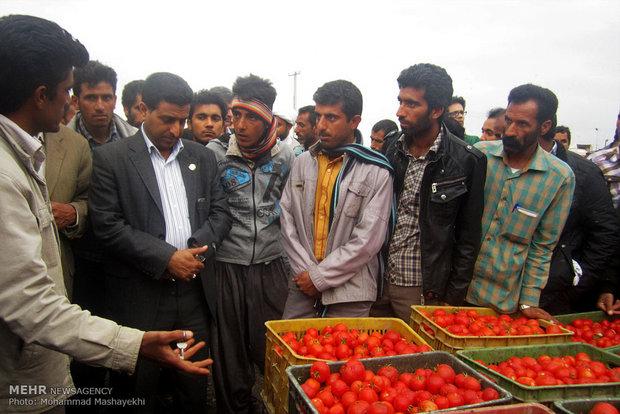
<svg viewBox="0 0 620 414">
<path fill-rule="evenodd" d="M 488 378 L 485 378 L 480 373 L 468 367 L 462 361 L 459 361 L 454 355 L 450 355 L 447 352 L 426 352 L 423 354 L 412 355 L 398 355 L 392 357 L 381 357 L 371 359 L 361 359 L 362 363 L 373 372 L 377 372 L 379 368 L 390 365 L 398 369 L 399 373 L 414 372 L 418 368 L 434 368 L 439 364 L 448 364 L 454 369 L 454 372 L 466 373 L 469 376 L 476 378 L 480 381 L 482 388 L 493 388 L 499 393 L 499 399 L 493 401 L 485 401 L 479 404 L 472 404 L 468 407 L 486 407 L 490 405 L 507 404 L 512 400 L 512 395 L 505 389 L 494 384 Z M 345 361 L 328 362 L 332 373 L 338 372 L 340 367 Z M 289 405 L 288 410 L 290 413 L 318 413 L 318 411 L 312 405 L 312 402 L 301 388 L 303 384 L 310 377 L 310 367 L 312 365 L 292 366 L 286 369 L 289 380 Z M 434 412 L 454 411 L 454 408 L 446 410 L 437 410 Z"/>
</svg>

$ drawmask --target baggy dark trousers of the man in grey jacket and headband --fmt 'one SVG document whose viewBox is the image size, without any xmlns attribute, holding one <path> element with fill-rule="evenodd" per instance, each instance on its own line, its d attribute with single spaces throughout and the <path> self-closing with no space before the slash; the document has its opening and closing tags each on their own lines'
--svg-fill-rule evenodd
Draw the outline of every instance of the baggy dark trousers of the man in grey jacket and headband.
<svg viewBox="0 0 620 414">
<path fill-rule="evenodd" d="M 265 369 L 265 322 L 282 318 L 289 276 L 281 258 L 250 266 L 217 262 L 211 355 L 218 413 L 252 412 L 252 364 Z"/>
</svg>

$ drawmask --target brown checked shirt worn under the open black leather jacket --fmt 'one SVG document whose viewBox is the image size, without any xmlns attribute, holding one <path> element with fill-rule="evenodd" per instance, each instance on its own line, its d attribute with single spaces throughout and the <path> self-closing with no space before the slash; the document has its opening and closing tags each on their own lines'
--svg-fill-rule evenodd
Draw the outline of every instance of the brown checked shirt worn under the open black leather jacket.
<svg viewBox="0 0 620 414">
<path fill-rule="evenodd" d="M 401 145 L 409 158 L 403 190 L 398 199 L 396 227 L 390 241 L 386 279 L 397 286 L 422 286 L 422 259 L 420 254 L 420 184 L 431 152 L 437 153 L 442 132 L 425 155 L 416 158 L 409 152 L 402 135 Z"/>
</svg>

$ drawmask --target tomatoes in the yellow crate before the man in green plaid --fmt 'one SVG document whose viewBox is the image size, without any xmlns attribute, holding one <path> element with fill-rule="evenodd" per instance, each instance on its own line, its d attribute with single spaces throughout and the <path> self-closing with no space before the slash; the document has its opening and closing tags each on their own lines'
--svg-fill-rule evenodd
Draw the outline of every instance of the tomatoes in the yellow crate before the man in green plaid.
<svg viewBox="0 0 620 414">
<path fill-rule="evenodd" d="M 537 319 L 517 318 L 510 315 L 480 315 L 476 309 L 460 309 L 457 312 L 446 312 L 435 309 L 433 313 L 421 311 L 427 318 L 434 321 L 453 335 L 458 336 L 508 336 L 508 335 L 544 335 L 564 333 L 557 325 L 549 325 L 543 329 Z M 424 330 L 434 335 L 432 329 L 424 325 Z"/>
</svg>

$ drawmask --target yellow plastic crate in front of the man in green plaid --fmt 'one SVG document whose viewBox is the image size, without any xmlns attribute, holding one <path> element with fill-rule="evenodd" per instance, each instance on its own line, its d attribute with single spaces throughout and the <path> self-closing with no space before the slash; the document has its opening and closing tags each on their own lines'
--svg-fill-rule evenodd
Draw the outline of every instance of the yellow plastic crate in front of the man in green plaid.
<svg viewBox="0 0 620 414">
<path fill-rule="evenodd" d="M 459 336 L 448 332 L 446 329 L 437 325 L 432 319 L 426 317 L 422 311 L 425 310 L 432 314 L 436 309 L 444 309 L 446 312 L 454 313 L 458 310 L 475 309 L 479 315 L 494 315 L 500 314 L 495 312 L 491 308 L 477 308 L 477 307 L 456 307 L 456 306 L 412 306 L 411 307 L 410 325 L 417 331 L 422 339 L 428 344 L 438 350 L 446 351 L 450 353 L 456 353 L 461 349 L 473 349 L 473 348 L 495 348 L 502 346 L 524 346 L 524 345 L 544 345 L 544 344 L 561 344 L 571 342 L 573 333 L 564 328 L 561 334 L 544 334 L 544 335 L 511 335 L 511 336 Z M 550 324 L 548 321 L 540 321 L 542 327 L 546 327 Z M 428 326 L 433 332 L 434 336 L 424 330 L 424 326 Z"/>
</svg>

